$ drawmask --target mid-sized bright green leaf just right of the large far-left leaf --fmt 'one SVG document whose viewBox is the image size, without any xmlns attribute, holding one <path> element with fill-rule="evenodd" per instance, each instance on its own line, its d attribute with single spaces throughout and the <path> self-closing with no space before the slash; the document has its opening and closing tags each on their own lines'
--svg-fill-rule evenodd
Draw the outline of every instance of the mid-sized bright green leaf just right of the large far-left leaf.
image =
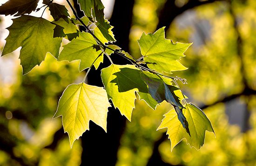
<svg viewBox="0 0 256 166">
<path fill-rule="evenodd" d="M 67 45 L 63 45 L 59 60 L 68 60 L 69 62 L 81 60 L 79 71 L 85 70 L 93 64 L 101 53 L 101 51 L 94 49 L 94 45 L 97 45 L 94 37 L 88 32 L 81 32 L 78 38 L 74 38 Z M 101 62 L 103 62 L 103 56 L 95 61 L 94 67 L 97 69 Z"/>
</svg>

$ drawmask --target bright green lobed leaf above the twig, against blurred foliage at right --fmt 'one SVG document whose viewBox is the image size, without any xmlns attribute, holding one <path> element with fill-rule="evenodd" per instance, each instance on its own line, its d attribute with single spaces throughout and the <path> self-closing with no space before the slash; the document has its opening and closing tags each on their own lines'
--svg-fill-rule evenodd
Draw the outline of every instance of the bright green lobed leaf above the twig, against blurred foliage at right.
<svg viewBox="0 0 256 166">
<path fill-rule="evenodd" d="M 192 43 L 177 42 L 174 44 L 171 40 L 165 38 L 164 27 L 154 34 L 146 35 L 142 33 L 138 42 L 144 61 L 150 69 L 161 73 L 187 69 L 178 60 L 185 57 L 184 52 Z"/>
</svg>

